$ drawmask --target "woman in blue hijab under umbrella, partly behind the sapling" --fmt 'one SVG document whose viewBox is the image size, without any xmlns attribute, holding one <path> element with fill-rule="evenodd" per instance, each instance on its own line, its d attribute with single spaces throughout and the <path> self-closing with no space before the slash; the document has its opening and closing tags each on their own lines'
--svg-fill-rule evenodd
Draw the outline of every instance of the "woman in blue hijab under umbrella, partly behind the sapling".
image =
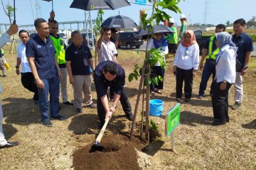
<svg viewBox="0 0 256 170">
<path fill-rule="evenodd" d="M 165 62 L 165 55 L 168 54 L 168 44 L 166 40 L 164 39 L 164 34 L 162 33 L 156 33 L 154 38 L 150 38 L 148 42 L 148 48 L 155 48 L 162 50 L 162 57 L 164 57 Z M 150 94 L 154 96 L 155 93 L 162 94 L 160 89 L 163 89 L 164 87 L 164 68 L 162 68 L 159 64 L 159 62 L 156 62 L 153 68 L 151 68 L 151 74 L 150 77 L 154 76 L 161 76 L 163 78 L 163 81 L 159 81 L 158 84 L 154 84 L 152 81 L 150 84 Z"/>
</svg>

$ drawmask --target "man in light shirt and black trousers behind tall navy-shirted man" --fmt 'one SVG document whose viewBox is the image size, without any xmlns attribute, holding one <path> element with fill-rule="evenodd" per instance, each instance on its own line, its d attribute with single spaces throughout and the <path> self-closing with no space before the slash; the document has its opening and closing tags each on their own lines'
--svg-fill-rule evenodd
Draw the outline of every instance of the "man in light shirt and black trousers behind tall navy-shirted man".
<svg viewBox="0 0 256 170">
<path fill-rule="evenodd" d="M 17 47 L 16 74 L 21 74 L 21 84 L 34 93 L 33 101 L 35 104 L 38 104 L 38 90 L 26 57 L 26 42 L 29 40 L 29 33 L 26 30 L 20 30 L 18 36 L 22 43 Z M 21 71 L 19 69 L 20 65 Z"/>
</svg>

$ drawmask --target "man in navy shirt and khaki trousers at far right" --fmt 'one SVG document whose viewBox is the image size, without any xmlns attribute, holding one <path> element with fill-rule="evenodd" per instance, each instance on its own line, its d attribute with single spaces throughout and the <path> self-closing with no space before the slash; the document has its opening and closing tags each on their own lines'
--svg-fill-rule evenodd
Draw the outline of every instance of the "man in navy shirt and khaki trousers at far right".
<svg viewBox="0 0 256 170">
<path fill-rule="evenodd" d="M 237 51 L 237 62 L 240 62 L 240 68 L 236 70 L 237 74 L 235 77 L 235 104 L 233 109 L 238 109 L 242 103 L 242 77 L 246 74 L 251 52 L 253 51 L 252 38 L 244 33 L 245 30 L 245 20 L 240 18 L 233 24 L 233 30 L 235 34 L 233 35 L 233 42 L 238 47 Z M 237 63 L 238 64 L 238 63 Z"/>
</svg>

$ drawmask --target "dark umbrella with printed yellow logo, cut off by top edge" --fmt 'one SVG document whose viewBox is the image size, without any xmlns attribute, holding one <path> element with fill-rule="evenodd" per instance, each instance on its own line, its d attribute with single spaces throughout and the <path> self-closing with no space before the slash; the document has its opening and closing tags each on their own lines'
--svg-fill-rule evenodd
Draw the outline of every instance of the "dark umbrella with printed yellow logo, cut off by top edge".
<svg viewBox="0 0 256 170">
<path fill-rule="evenodd" d="M 73 0 L 70 8 L 80 8 L 85 11 L 99 9 L 116 9 L 124 6 L 130 6 L 127 0 Z"/>
</svg>

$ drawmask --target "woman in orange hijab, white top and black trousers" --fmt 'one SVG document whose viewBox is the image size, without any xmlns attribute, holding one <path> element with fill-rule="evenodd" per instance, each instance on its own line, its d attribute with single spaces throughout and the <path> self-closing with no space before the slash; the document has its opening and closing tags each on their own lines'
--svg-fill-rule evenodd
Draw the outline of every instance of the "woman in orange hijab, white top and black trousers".
<svg viewBox="0 0 256 170">
<path fill-rule="evenodd" d="M 183 41 L 178 45 L 176 56 L 174 58 L 174 76 L 176 75 L 176 101 L 182 97 L 183 81 L 185 82 L 184 92 L 185 101 L 191 100 L 193 77 L 199 64 L 199 46 L 196 42 L 196 36 L 193 30 L 187 30 Z"/>
</svg>

